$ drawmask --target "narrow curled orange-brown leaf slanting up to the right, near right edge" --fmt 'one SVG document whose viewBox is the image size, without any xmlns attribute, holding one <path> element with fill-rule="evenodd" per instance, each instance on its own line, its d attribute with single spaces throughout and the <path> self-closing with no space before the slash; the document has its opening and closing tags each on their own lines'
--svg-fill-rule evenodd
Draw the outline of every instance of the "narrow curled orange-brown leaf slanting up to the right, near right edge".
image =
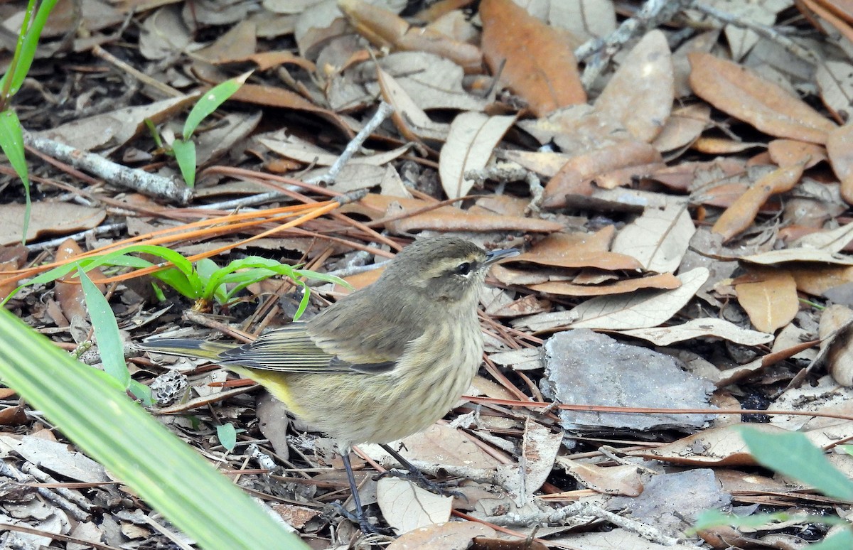
<svg viewBox="0 0 853 550">
<path fill-rule="evenodd" d="M 722 212 L 711 231 L 721 234 L 723 242 L 733 239 L 751 225 L 771 195 L 790 191 L 802 176 L 803 165 L 794 165 L 779 168 L 760 178 Z"/>
</svg>

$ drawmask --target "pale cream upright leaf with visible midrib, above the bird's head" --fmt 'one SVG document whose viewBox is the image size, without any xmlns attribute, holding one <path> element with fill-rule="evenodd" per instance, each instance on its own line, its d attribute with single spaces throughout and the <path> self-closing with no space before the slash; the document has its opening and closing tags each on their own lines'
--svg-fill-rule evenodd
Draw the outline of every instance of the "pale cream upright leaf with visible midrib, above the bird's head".
<svg viewBox="0 0 853 550">
<path fill-rule="evenodd" d="M 465 196 L 471 190 L 474 182 L 465 173 L 485 168 L 492 151 L 514 122 L 514 116 L 489 117 L 473 112 L 453 119 L 438 158 L 438 175 L 449 199 Z"/>
</svg>

